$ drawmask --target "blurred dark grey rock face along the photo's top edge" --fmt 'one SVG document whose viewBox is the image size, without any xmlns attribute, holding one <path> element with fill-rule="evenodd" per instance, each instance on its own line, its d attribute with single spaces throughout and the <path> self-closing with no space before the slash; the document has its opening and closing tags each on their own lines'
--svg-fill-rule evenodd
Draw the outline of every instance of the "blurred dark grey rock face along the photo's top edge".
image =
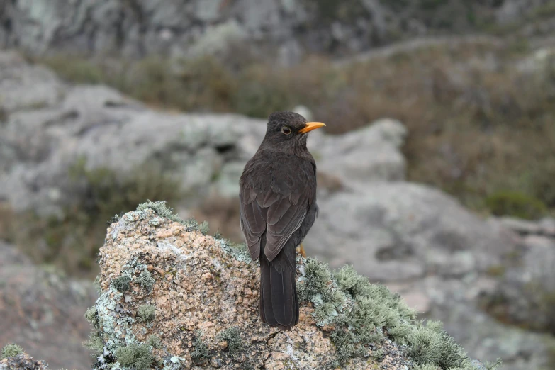
<svg viewBox="0 0 555 370">
<path fill-rule="evenodd" d="M 541 14 L 548 2 L 1 1 L 0 47 L 34 54 L 190 57 L 225 52 L 238 44 L 256 45 L 258 57 L 292 63 L 307 52 L 348 55 L 400 38 L 475 33 L 485 22 L 503 26 Z"/>
</svg>

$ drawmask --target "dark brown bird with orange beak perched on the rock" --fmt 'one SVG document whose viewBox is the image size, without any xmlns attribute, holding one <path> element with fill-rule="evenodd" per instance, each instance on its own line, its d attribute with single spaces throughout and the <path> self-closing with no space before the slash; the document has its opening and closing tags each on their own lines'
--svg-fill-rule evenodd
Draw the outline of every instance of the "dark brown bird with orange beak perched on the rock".
<svg viewBox="0 0 555 370">
<path fill-rule="evenodd" d="M 296 247 L 318 213 L 316 164 L 306 139 L 322 126 L 297 113 L 272 113 L 240 179 L 241 228 L 252 259 L 260 258 L 260 317 L 282 330 L 298 323 Z"/>
</svg>

